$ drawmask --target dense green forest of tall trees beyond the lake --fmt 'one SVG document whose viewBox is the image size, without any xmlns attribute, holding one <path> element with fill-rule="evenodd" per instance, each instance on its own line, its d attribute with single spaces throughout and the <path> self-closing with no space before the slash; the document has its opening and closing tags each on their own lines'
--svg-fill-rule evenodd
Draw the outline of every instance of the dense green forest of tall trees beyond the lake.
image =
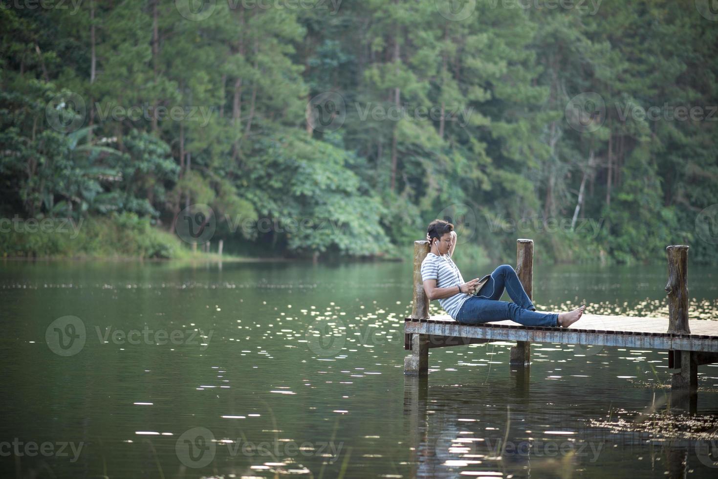
<svg viewBox="0 0 718 479">
<path fill-rule="evenodd" d="M 3 256 L 718 261 L 708 0 L 0 3 Z"/>
</svg>

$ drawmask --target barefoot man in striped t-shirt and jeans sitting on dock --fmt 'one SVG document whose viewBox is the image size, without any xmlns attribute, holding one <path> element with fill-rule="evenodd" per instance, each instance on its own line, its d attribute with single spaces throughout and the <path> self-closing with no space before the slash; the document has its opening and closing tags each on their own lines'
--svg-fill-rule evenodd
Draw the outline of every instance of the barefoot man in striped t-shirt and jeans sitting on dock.
<svg viewBox="0 0 718 479">
<path fill-rule="evenodd" d="M 513 320 L 524 326 L 568 327 L 581 318 L 586 308 L 583 305 L 571 312 L 537 312 L 516 271 L 508 264 L 498 266 L 482 279 L 464 282 L 452 261 L 456 232 L 447 221 L 432 221 L 426 239 L 432 250 L 421 263 L 424 291 L 430 301 L 439 299 L 439 304 L 458 322 L 475 325 Z M 513 302 L 500 301 L 504 289 Z"/>
</svg>

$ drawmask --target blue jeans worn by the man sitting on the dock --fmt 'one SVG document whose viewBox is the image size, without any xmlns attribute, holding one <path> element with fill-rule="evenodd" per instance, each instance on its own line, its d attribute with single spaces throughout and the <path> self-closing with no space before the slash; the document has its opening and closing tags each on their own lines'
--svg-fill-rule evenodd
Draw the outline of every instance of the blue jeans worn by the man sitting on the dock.
<svg viewBox="0 0 718 479">
<path fill-rule="evenodd" d="M 504 290 L 513 303 L 499 301 Z M 456 315 L 458 322 L 476 325 L 482 322 L 512 320 L 524 326 L 558 326 L 559 315 L 554 312 L 536 312 L 523 289 L 516 271 L 510 264 L 496 268 L 475 296 L 462 304 Z"/>
</svg>

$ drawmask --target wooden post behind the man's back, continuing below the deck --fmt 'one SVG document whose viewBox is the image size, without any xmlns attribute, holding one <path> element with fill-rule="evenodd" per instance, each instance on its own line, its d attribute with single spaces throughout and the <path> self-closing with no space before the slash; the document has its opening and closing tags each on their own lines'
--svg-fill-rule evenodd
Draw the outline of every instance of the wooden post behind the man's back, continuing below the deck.
<svg viewBox="0 0 718 479">
<path fill-rule="evenodd" d="M 421 262 L 429 254 L 429 241 L 414 241 L 414 306 L 411 308 L 412 320 L 429 319 L 429 298 L 424 292 L 421 281 Z M 411 344 L 411 356 L 404 358 L 404 374 L 426 376 L 429 374 L 429 335 L 409 334 L 404 336 Z"/>
</svg>

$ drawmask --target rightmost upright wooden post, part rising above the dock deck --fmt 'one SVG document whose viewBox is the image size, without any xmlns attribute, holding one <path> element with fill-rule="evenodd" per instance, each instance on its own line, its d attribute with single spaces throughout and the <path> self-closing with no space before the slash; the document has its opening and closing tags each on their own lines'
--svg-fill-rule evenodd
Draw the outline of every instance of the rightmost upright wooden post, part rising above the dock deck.
<svg viewBox="0 0 718 479">
<path fill-rule="evenodd" d="M 688 325 L 688 246 L 667 246 L 668 334 L 690 334 Z"/>
</svg>

